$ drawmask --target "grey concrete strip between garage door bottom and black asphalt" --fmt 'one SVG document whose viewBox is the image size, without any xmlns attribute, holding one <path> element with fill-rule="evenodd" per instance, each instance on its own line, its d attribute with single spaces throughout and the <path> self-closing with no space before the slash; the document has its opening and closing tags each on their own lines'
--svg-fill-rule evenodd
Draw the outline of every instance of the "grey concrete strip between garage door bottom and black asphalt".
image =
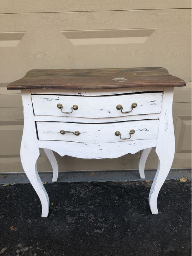
<svg viewBox="0 0 192 256">
<path fill-rule="evenodd" d="M 145 170 L 146 180 L 153 180 L 157 170 Z M 191 169 L 171 169 L 166 180 L 180 179 L 186 175 L 191 179 Z M 39 172 L 42 182 L 52 182 L 53 172 Z M 141 179 L 138 170 L 119 171 L 59 171 L 58 182 L 92 182 L 92 181 L 137 181 Z M 0 184 L 28 183 L 25 173 L 1 173 Z"/>
</svg>

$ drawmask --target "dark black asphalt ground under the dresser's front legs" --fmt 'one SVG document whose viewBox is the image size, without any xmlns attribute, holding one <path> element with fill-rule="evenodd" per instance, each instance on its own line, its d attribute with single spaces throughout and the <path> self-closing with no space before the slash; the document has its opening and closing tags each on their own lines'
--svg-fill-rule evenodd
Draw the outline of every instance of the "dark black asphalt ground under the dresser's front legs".
<svg viewBox="0 0 192 256">
<path fill-rule="evenodd" d="M 159 214 L 151 183 L 45 184 L 50 214 L 30 184 L 0 186 L 0 256 L 189 256 L 191 183 L 167 180 Z"/>
</svg>

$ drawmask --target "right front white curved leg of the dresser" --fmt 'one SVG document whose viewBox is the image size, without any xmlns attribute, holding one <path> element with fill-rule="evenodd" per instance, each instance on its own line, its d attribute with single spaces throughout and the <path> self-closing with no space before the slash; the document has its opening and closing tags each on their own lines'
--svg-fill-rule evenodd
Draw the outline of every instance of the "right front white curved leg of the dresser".
<svg viewBox="0 0 192 256">
<path fill-rule="evenodd" d="M 162 118 L 160 116 L 157 147 L 155 148 L 159 158 L 159 165 L 149 195 L 150 209 L 153 214 L 158 213 L 157 197 L 174 160 L 175 136 L 172 119 L 172 100 L 173 88 L 164 88 Z"/>
</svg>

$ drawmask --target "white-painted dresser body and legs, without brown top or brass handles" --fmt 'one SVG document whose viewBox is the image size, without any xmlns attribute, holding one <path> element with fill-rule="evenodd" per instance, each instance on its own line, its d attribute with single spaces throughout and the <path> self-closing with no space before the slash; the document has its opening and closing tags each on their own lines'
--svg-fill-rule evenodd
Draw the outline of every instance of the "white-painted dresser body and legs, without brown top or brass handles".
<svg viewBox="0 0 192 256">
<path fill-rule="evenodd" d="M 149 202 L 151 212 L 158 213 L 157 197 L 174 157 L 172 99 L 172 87 L 101 91 L 22 90 L 24 132 L 21 161 L 41 200 L 42 217 L 48 215 L 49 199 L 37 172 L 39 148 L 44 148 L 53 168 L 53 181 L 56 181 L 58 165 L 52 150 L 61 156 L 86 159 L 118 158 L 142 150 L 139 172 L 144 178 L 148 154 L 152 147 L 156 147 L 159 167 L 151 186 Z M 116 105 L 121 104 L 128 111 L 133 102 L 137 102 L 137 108 L 131 113 L 124 114 L 116 109 Z M 69 111 L 74 104 L 79 109 L 72 114 L 63 114 L 57 108 L 58 103 L 65 106 L 64 111 Z M 114 132 L 120 131 L 123 138 L 129 137 L 131 129 L 135 130 L 131 139 L 121 140 L 120 136 L 114 135 Z M 60 130 L 79 130 L 80 135 L 62 135 Z"/>
</svg>

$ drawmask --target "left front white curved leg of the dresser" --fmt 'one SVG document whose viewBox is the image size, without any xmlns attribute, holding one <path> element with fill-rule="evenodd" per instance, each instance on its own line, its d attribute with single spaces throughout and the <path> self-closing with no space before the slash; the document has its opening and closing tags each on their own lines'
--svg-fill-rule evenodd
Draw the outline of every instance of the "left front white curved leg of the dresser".
<svg viewBox="0 0 192 256">
<path fill-rule="evenodd" d="M 40 150 L 33 116 L 31 92 L 30 90 L 22 90 L 21 93 L 24 110 L 24 129 L 20 150 L 21 163 L 31 185 L 41 200 L 41 216 L 47 217 L 49 213 L 49 197 L 37 171 L 37 158 L 39 157 Z"/>
</svg>

